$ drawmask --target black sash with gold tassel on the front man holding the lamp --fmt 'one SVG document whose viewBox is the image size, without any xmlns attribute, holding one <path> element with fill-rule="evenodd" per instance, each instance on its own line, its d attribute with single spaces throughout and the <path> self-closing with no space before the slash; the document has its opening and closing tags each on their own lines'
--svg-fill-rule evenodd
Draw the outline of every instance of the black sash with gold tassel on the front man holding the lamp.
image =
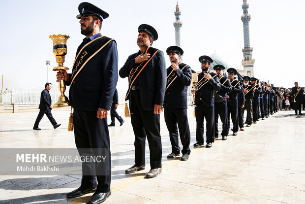
<svg viewBox="0 0 305 204">
<path fill-rule="evenodd" d="M 84 47 L 78 52 L 78 54 L 76 55 L 76 58 L 74 60 L 73 68 L 72 68 L 72 76 L 71 76 L 71 80 L 70 80 L 70 86 L 72 86 L 75 77 L 85 67 L 85 65 L 91 60 L 91 58 L 94 57 L 97 53 L 99 53 L 112 40 L 113 39 L 111 39 L 109 37 L 100 36 L 100 37 L 97 37 L 97 38 L 91 40 L 86 45 L 84 45 Z M 68 131 L 73 131 L 72 107 L 71 107 L 71 113 L 70 113 L 69 123 L 68 123 Z"/>
</svg>

